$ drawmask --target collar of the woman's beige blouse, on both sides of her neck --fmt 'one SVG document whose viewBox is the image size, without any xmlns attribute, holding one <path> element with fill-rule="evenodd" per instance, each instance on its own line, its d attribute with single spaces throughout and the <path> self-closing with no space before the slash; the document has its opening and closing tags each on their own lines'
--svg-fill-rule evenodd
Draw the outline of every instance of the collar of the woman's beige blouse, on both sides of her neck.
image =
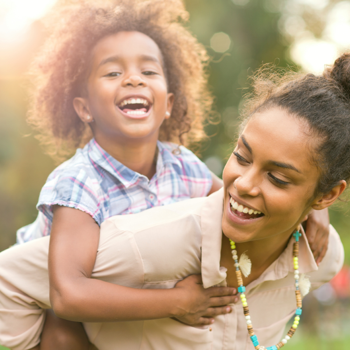
<svg viewBox="0 0 350 350">
<path fill-rule="evenodd" d="M 226 270 L 220 268 L 223 198 L 224 190 L 221 188 L 207 198 L 201 211 L 202 280 L 204 288 L 215 286 L 226 278 Z M 300 273 L 316 271 L 318 267 L 303 229 L 301 229 L 299 242 Z M 246 286 L 247 292 L 264 281 L 281 279 L 286 277 L 289 272 L 294 271 L 293 243 L 294 238 L 292 237 L 279 258 L 258 279 Z"/>
</svg>

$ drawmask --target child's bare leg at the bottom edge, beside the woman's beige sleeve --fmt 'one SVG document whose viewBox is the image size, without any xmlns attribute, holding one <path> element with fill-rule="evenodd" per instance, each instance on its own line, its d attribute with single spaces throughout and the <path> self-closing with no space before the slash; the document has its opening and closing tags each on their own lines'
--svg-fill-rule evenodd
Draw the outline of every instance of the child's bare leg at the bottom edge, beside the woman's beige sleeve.
<svg viewBox="0 0 350 350">
<path fill-rule="evenodd" d="M 46 311 L 46 321 L 41 334 L 40 350 L 88 350 L 87 339 L 83 325 L 57 317 L 49 309 Z"/>
</svg>

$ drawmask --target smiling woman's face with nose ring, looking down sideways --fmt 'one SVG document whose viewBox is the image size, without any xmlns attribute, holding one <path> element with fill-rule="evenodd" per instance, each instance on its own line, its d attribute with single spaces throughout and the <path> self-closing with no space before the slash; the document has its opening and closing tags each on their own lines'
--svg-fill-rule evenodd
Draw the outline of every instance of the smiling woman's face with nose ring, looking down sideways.
<svg viewBox="0 0 350 350">
<path fill-rule="evenodd" d="M 310 161 L 317 141 L 305 129 L 278 108 L 248 121 L 223 173 L 222 228 L 233 241 L 286 232 L 310 211 L 320 174 Z"/>
</svg>

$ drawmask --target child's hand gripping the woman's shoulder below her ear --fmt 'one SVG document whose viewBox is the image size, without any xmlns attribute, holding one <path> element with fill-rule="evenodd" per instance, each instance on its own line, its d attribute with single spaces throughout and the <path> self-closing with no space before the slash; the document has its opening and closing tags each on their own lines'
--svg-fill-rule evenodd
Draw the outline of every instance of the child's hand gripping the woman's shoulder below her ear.
<svg viewBox="0 0 350 350">
<path fill-rule="evenodd" d="M 320 265 L 328 247 L 329 215 L 328 208 L 313 210 L 306 221 L 306 237 L 316 264 Z"/>
</svg>

